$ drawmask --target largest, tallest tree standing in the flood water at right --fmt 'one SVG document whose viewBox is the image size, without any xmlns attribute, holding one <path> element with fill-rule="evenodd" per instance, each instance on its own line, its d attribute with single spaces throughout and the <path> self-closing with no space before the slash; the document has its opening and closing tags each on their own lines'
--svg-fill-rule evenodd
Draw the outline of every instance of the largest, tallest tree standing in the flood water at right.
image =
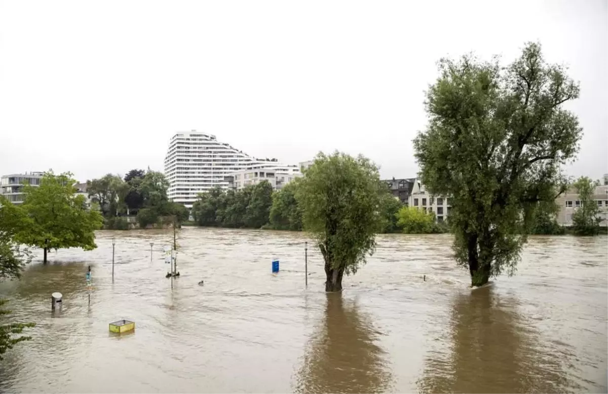
<svg viewBox="0 0 608 394">
<path fill-rule="evenodd" d="M 415 156 L 427 190 L 452 197 L 456 258 L 478 286 L 513 272 L 534 209 L 564 187 L 560 167 L 582 137 L 564 103 L 579 85 L 536 43 L 508 67 L 469 55 L 441 60 L 439 71 Z"/>
</svg>

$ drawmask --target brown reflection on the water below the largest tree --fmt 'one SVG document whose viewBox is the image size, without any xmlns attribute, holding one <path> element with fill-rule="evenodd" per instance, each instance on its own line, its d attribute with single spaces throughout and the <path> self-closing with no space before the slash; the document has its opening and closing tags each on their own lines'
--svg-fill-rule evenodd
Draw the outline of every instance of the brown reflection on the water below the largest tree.
<svg viewBox="0 0 608 394">
<path fill-rule="evenodd" d="M 561 368 L 566 354 L 539 348 L 517 312 L 513 297 L 499 297 L 492 286 L 455 297 L 449 326 L 451 351 L 427 358 L 419 388 L 424 393 L 568 393 Z M 572 355 L 569 355 L 572 357 Z"/>
</svg>

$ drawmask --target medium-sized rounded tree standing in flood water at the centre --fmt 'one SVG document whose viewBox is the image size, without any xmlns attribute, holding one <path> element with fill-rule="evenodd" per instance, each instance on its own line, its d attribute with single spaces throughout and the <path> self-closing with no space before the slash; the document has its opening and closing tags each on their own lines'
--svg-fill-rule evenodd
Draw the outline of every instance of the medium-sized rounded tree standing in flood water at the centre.
<svg viewBox="0 0 608 394">
<path fill-rule="evenodd" d="M 304 229 L 313 233 L 325 260 L 325 291 L 342 290 L 373 253 L 381 226 L 382 188 L 378 167 L 363 156 L 319 153 L 296 191 Z"/>
</svg>

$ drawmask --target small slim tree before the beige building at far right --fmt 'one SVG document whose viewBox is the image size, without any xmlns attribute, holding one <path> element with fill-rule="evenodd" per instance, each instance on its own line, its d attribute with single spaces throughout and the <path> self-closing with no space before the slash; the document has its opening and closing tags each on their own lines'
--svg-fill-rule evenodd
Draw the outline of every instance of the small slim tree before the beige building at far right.
<svg viewBox="0 0 608 394">
<path fill-rule="evenodd" d="M 597 235 L 599 232 L 599 207 L 593 195 L 595 194 L 596 183 L 587 176 L 581 176 L 573 184 L 578 193 L 581 206 L 576 208 L 572 214 L 572 224 L 576 235 Z"/>
</svg>

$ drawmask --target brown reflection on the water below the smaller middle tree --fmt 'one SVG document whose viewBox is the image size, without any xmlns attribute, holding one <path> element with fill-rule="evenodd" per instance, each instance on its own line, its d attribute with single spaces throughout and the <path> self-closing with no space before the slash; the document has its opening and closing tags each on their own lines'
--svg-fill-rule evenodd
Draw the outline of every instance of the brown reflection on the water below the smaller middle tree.
<svg viewBox="0 0 608 394">
<path fill-rule="evenodd" d="M 342 294 L 326 297 L 322 327 L 306 352 L 297 393 L 384 392 L 390 374 L 367 316 L 354 303 L 344 305 Z"/>
</svg>

